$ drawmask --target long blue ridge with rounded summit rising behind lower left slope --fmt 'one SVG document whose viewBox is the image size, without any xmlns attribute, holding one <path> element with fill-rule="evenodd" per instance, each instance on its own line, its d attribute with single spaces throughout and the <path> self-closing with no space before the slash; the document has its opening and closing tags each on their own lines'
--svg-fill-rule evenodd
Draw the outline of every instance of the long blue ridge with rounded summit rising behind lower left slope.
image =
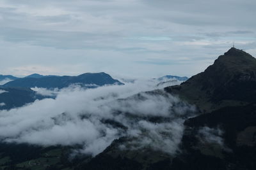
<svg viewBox="0 0 256 170">
<path fill-rule="evenodd" d="M 79 76 L 43 76 L 33 74 L 34 77 L 20 78 L 4 84 L 4 87 L 42 87 L 47 89 L 68 87 L 72 84 L 83 85 L 93 88 L 102 85 L 122 85 L 118 80 L 113 79 L 106 73 L 84 73 Z M 35 78 L 36 77 L 36 78 Z"/>
</svg>

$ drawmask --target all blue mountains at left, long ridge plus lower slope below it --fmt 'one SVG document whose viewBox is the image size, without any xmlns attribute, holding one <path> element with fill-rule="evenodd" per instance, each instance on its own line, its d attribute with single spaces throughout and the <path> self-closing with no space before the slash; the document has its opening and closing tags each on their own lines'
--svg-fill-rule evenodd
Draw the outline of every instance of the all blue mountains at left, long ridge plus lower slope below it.
<svg viewBox="0 0 256 170">
<path fill-rule="evenodd" d="M 0 110 L 16 108 L 27 103 L 33 103 L 36 99 L 52 97 L 36 94 L 35 91 L 30 89 L 32 87 L 62 89 L 73 84 L 86 88 L 113 84 L 124 85 L 124 83 L 113 79 L 106 73 L 84 73 L 79 76 L 43 76 L 40 74 L 31 74 L 24 78 L 16 78 L 14 76 L 2 77 L 12 78 L 12 81 L 0 86 Z"/>
</svg>

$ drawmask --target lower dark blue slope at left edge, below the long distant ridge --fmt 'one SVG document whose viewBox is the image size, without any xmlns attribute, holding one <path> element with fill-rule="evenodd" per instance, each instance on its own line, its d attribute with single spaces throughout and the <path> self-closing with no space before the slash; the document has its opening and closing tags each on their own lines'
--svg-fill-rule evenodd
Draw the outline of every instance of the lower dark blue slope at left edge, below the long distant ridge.
<svg viewBox="0 0 256 170">
<path fill-rule="evenodd" d="M 36 99 L 44 99 L 45 96 L 36 94 L 29 88 L 0 87 L 0 110 L 17 108 L 24 104 L 33 103 Z"/>
</svg>

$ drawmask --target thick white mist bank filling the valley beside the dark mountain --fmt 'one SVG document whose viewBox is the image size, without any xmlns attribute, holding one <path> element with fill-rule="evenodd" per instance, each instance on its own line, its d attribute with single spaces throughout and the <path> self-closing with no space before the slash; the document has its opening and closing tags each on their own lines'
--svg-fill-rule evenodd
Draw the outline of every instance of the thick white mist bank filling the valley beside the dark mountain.
<svg viewBox="0 0 256 170">
<path fill-rule="evenodd" d="M 174 154 L 179 149 L 184 118 L 195 108 L 163 90 L 141 92 L 154 88 L 138 82 L 63 89 L 56 99 L 0 111 L 0 139 L 42 146 L 80 145 L 79 152 L 97 155 L 114 139 L 126 136 L 139 139 L 133 142 L 134 148 Z"/>
</svg>

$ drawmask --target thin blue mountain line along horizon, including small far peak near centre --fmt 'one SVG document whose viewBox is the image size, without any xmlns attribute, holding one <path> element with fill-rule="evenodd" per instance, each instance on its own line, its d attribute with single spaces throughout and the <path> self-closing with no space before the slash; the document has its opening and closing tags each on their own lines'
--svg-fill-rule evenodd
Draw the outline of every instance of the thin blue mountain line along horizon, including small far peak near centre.
<svg viewBox="0 0 256 170">
<path fill-rule="evenodd" d="M 101 75 L 100 75 L 101 74 Z M 96 76 L 98 78 L 96 78 Z M 108 78 L 107 78 L 108 77 Z M 33 79 L 30 79 L 33 78 Z M 41 79 L 46 78 L 46 79 Z M 86 80 L 87 79 L 87 80 Z M 98 80 L 97 80 L 98 79 Z M 16 81 L 13 81 L 16 80 Z M 91 81 L 92 80 L 92 81 Z M 103 80 L 100 82 L 100 80 Z M 56 76 L 56 75 L 42 75 L 42 74 L 30 74 L 29 76 L 25 76 L 24 78 L 18 78 L 12 75 L 1 75 L 0 74 L 0 85 L 4 87 L 44 87 L 47 89 L 54 89 L 54 88 L 63 88 L 67 87 L 71 84 L 80 84 L 80 85 L 95 85 L 102 86 L 106 84 L 113 84 L 118 83 L 134 83 L 137 79 L 134 78 L 121 78 L 121 81 L 114 80 L 113 78 L 109 77 L 109 74 L 106 73 L 85 73 L 79 76 Z M 186 81 L 188 77 L 183 76 L 173 76 L 173 75 L 166 75 L 160 78 L 153 78 L 150 80 L 157 80 L 157 86 L 159 85 L 168 85 L 173 81 Z M 13 81 L 13 82 L 10 82 Z M 45 84 L 47 81 L 47 85 Z M 106 82 L 104 82 L 106 81 Z"/>
</svg>

